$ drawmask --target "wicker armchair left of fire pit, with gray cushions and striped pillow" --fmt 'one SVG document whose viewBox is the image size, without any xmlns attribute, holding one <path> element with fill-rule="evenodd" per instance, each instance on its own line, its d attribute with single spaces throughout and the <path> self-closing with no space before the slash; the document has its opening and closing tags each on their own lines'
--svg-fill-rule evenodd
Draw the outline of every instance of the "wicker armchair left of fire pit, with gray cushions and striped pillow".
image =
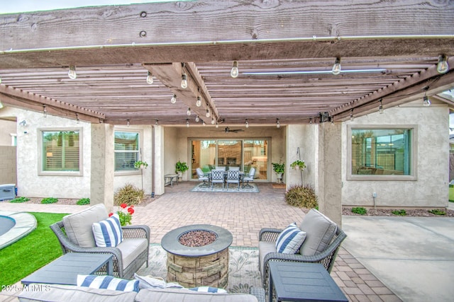
<svg viewBox="0 0 454 302">
<path fill-rule="evenodd" d="M 116 216 L 116 215 L 115 215 Z M 109 220 L 110 219 L 110 220 Z M 112 223 L 114 221 L 114 223 Z M 62 221 L 50 228 L 60 241 L 63 254 L 67 252 L 100 252 L 114 256 L 114 276 L 133 279 L 134 273 L 145 263 L 148 267 L 150 228 L 148 226 L 119 226 L 109 218 L 104 204 L 96 204 L 74 214 L 64 216 Z M 99 226 L 114 225 L 109 233 L 100 233 Z M 118 232 L 116 232 L 118 228 Z M 96 235 L 96 236 L 95 236 Z M 96 237 L 96 238 L 95 238 Z M 104 245 L 104 246 L 103 246 Z"/>
</svg>

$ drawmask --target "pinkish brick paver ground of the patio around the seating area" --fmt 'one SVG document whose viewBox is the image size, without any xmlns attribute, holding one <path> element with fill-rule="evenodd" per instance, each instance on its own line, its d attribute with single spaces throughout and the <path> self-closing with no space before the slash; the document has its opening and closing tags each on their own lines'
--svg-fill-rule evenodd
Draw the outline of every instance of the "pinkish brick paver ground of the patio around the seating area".
<svg viewBox="0 0 454 302">
<path fill-rule="evenodd" d="M 258 183 L 259 193 L 190 192 L 197 182 L 179 182 L 165 187 L 165 194 L 146 207 L 135 207 L 134 224 L 151 228 L 151 243 L 179 226 L 196 223 L 214 224 L 233 234 L 233 246 L 258 246 L 262 227 L 284 228 L 301 221 L 304 211 L 284 201 L 284 189 L 270 183 Z M 73 213 L 87 206 L 2 203 L 7 211 L 47 211 Z M 400 301 L 350 253 L 341 248 L 331 276 L 349 301 Z M 0 301 L 16 301 L 13 293 L 0 294 Z"/>
</svg>

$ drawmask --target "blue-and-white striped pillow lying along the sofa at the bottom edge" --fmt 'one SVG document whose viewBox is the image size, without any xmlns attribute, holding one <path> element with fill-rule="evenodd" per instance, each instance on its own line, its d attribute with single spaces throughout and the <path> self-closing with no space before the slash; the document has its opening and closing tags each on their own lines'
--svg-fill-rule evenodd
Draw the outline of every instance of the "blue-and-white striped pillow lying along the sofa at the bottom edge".
<svg viewBox="0 0 454 302">
<path fill-rule="evenodd" d="M 112 276 L 97 276 L 96 274 L 78 274 L 77 286 L 92 289 L 111 289 L 113 291 L 139 291 L 138 280 L 125 280 Z"/>
</svg>

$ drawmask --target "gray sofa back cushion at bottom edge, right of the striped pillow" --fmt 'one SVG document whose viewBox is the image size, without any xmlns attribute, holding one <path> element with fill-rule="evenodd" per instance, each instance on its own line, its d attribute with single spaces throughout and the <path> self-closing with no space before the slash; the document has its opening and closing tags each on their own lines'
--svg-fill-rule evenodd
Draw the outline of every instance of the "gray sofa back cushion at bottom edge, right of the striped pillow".
<svg viewBox="0 0 454 302">
<path fill-rule="evenodd" d="M 189 289 L 140 289 L 137 302 L 258 302 L 255 296 L 250 294 L 212 294 Z"/>
</svg>

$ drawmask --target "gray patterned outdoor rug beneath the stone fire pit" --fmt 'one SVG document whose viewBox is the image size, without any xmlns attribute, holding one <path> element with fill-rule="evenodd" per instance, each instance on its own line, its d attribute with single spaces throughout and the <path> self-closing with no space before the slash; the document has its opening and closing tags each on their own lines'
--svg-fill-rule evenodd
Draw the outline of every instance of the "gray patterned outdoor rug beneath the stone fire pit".
<svg viewBox="0 0 454 302">
<path fill-rule="evenodd" d="M 229 293 L 249 293 L 249 288 L 262 287 L 258 271 L 258 248 L 229 248 L 228 287 Z M 150 244 L 148 267 L 141 267 L 137 274 L 167 279 L 167 252 L 159 244 Z"/>
</svg>

